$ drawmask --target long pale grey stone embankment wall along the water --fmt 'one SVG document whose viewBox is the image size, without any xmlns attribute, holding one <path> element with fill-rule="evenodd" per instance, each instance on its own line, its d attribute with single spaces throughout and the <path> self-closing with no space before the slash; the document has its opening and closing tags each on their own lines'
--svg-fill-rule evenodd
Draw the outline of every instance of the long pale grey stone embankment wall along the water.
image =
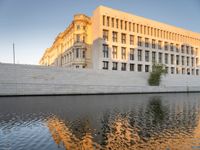
<svg viewBox="0 0 200 150">
<path fill-rule="evenodd" d="M 0 95 L 200 92 L 200 76 L 166 75 L 148 86 L 148 73 L 0 64 Z"/>
</svg>

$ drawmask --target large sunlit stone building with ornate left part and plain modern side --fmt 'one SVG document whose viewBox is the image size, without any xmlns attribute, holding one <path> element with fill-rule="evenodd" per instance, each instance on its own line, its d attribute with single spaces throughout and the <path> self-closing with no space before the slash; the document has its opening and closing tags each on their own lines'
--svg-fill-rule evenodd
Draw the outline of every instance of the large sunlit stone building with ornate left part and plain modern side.
<svg viewBox="0 0 200 150">
<path fill-rule="evenodd" d="M 45 51 L 41 65 L 170 74 L 200 73 L 200 34 L 112 8 L 75 15 Z"/>
</svg>

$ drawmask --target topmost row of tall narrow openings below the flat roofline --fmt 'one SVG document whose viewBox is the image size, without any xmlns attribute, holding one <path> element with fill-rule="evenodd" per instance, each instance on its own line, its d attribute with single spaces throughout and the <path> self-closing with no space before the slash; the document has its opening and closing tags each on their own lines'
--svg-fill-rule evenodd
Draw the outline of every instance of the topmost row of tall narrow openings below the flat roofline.
<svg viewBox="0 0 200 150">
<path fill-rule="evenodd" d="M 125 31 L 132 31 L 132 32 L 140 33 L 140 34 L 151 35 L 151 36 L 159 37 L 163 39 L 175 40 L 175 41 L 180 41 L 180 42 L 193 42 L 193 43 L 199 42 L 200 43 L 200 39 L 197 39 L 197 38 L 157 29 L 154 27 L 146 26 L 146 25 L 132 23 L 130 21 L 125 21 L 122 19 L 109 17 L 105 15 L 103 15 L 103 25 L 107 27 L 113 27 L 113 28 L 125 30 Z"/>
</svg>

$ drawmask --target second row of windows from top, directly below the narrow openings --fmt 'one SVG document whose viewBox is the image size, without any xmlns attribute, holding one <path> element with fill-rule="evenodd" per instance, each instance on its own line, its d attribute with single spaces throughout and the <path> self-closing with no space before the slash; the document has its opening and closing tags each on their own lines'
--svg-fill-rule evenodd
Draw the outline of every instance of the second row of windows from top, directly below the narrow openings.
<svg viewBox="0 0 200 150">
<path fill-rule="evenodd" d="M 103 30 L 103 39 L 105 41 L 109 40 L 109 31 L 108 30 Z M 134 45 L 134 35 L 129 35 L 129 44 Z M 112 32 L 112 41 L 113 42 L 118 42 L 118 32 L 113 31 Z M 121 43 L 126 44 L 127 43 L 127 35 L 125 33 L 121 33 Z M 137 37 L 137 45 L 139 47 L 146 47 L 146 48 L 153 48 L 153 49 L 164 49 L 164 50 L 171 50 L 176 52 L 181 52 L 181 53 L 186 53 L 186 54 L 191 54 L 194 55 L 194 52 L 198 52 L 198 48 L 194 50 L 194 47 L 188 46 L 188 45 L 180 45 L 179 44 L 174 44 L 174 43 L 168 43 L 168 42 L 163 42 L 161 40 L 156 41 L 155 39 L 150 40 L 149 38 L 145 38 L 144 42 L 142 37 L 138 36 Z M 163 47 L 162 47 L 163 46 Z M 180 47 L 180 48 L 179 48 Z M 181 51 L 180 51 L 181 49 Z"/>
</svg>

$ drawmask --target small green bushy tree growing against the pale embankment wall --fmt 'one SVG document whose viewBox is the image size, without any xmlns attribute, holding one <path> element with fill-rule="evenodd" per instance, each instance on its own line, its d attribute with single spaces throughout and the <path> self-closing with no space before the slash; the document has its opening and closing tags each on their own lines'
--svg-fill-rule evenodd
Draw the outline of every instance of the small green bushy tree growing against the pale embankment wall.
<svg viewBox="0 0 200 150">
<path fill-rule="evenodd" d="M 152 72 L 150 73 L 148 83 L 151 86 L 160 85 L 161 75 L 166 74 L 166 70 L 163 64 L 153 64 Z"/>
</svg>

